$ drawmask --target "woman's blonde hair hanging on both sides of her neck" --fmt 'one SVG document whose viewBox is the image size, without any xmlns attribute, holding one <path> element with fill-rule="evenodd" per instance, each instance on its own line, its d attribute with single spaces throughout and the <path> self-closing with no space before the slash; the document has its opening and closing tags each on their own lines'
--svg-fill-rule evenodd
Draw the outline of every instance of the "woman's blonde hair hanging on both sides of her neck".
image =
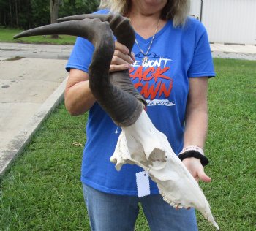
<svg viewBox="0 0 256 231">
<path fill-rule="evenodd" d="M 108 9 L 110 12 L 128 15 L 130 0 L 102 0 L 99 9 Z M 173 26 L 183 26 L 189 14 L 189 0 L 167 0 L 162 10 L 162 19 L 173 20 Z"/>
</svg>

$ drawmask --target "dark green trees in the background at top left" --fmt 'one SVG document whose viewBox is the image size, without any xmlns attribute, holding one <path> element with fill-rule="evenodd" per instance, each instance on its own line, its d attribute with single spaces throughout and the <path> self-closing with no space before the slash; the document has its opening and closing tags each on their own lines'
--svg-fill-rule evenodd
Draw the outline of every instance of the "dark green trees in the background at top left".
<svg viewBox="0 0 256 231">
<path fill-rule="evenodd" d="M 93 12 L 99 0 L 62 0 L 59 17 Z M 50 23 L 50 1 L 0 0 L 0 26 L 29 29 Z"/>
</svg>

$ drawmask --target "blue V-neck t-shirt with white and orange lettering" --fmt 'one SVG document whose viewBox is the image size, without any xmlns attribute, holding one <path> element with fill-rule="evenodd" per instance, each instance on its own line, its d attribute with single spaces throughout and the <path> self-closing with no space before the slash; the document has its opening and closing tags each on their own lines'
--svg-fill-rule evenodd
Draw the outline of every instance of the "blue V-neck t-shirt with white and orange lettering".
<svg viewBox="0 0 256 231">
<path fill-rule="evenodd" d="M 106 13 L 99 11 L 97 13 Z M 146 53 L 152 38 L 136 34 Z M 135 63 L 130 69 L 132 83 L 148 102 L 148 116 L 159 131 L 165 133 L 173 151 L 183 148 L 184 118 L 189 91 L 189 77 L 213 77 L 214 67 L 204 26 L 189 18 L 184 27 L 173 27 L 171 20 L 156 34 L 148 53 L 134 45 Z M 88 72 L 94 46 L 78 37 L 67 64 Z M 86 126 L 87 141 L 83 151 L 81 181 L 94 189 L 111 194 L 137 195 L 135 174 L 142 169 L 125 164 L 118 172 L 110 156 L 116 148 L 121 128 L 97 104 L 91 107 Z M 157 184 L 150 181 L 151 194 L 158 194 Z"/>
</svg>

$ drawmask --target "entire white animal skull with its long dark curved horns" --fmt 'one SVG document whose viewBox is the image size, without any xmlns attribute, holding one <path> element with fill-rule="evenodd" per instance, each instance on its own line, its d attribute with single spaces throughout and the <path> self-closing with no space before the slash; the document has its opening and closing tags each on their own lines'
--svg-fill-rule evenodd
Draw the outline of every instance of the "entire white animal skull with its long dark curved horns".
<svg viewBox="0 0 256 231">
<path fill-rule="evenodd" d="M 120 170 L 137 164 L 157 183 L 163 199 L 174 207 L 195 207 L 219 230 L 210 206 L 195 179 L 174 154 L 167 137 L 159 132 L 143 110 L 146 100 L 129 78 L 129 71 L 109 72 L 114 39 L 131 51 L 135 32 L 121 15 L 76 15 L 60 23 L 24 31 L 15 38 L 45 34 L 69 34 L 89 39 L 94 54 L 89 67 L 89 86 L 99 105 L 121 126 L 116 150 L 110 161 Z"/>
</svg>

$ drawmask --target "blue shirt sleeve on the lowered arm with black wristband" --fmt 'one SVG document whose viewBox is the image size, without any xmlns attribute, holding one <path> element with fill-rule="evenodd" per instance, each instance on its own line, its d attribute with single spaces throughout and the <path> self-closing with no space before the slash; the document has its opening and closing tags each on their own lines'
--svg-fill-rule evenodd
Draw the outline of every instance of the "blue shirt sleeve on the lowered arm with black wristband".
<svg viewBox="0 0 256 231">
<path fill-rule="evenodd" d="M 194 56 L 187 75 L 188 77 L 214 77 L 214 64 L 207 31 L 201 23 L 198 30 L 196 33 L 198 35 L 195 40 Z"/>
</svg>

